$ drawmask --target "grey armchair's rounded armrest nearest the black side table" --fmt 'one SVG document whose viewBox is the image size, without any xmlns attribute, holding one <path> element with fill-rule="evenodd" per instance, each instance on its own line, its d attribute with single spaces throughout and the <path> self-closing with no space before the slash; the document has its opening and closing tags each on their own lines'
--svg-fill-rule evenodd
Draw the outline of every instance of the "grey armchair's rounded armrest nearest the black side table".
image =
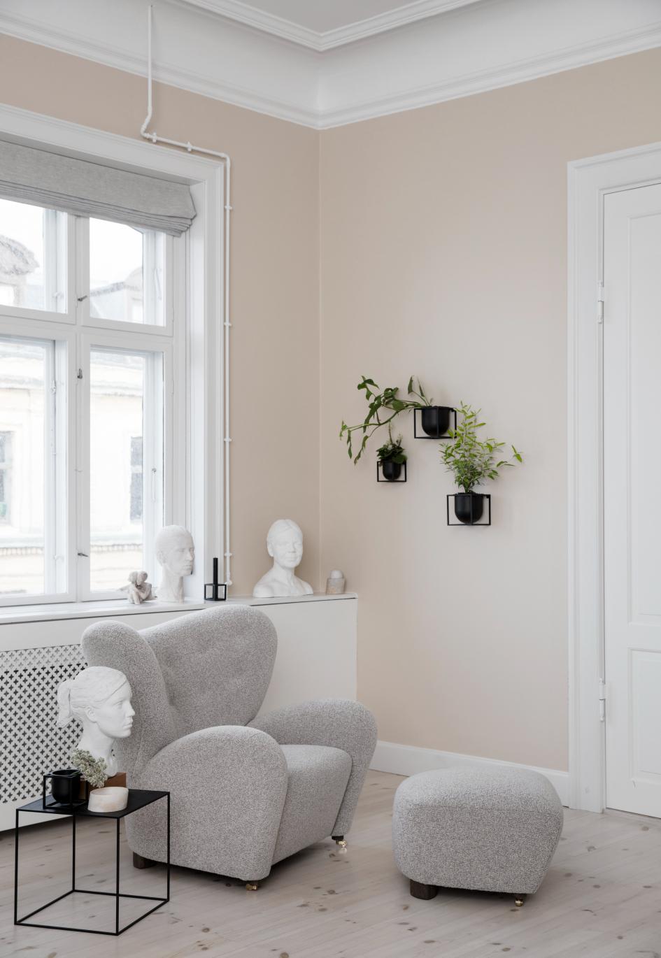
<svg viewBox="0 0 661 958">
<path fill-rule="evenodd" d="M 241 725 L 193 732 L 157 752 L 139 779 L 171 792 L 175 864 L 242 880 L 268 875 L 287 787 L 285 755 L 269 735 Z M 131 847 L 157 857 L 141 831 L 131 836 L 141 847 Z"/>
</svg>

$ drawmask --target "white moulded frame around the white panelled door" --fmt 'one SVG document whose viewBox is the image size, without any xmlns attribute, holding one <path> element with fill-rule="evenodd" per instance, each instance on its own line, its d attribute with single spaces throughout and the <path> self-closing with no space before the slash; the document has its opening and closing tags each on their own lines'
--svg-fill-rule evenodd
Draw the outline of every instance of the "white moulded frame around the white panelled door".
<svg viewBox="0 0 661 958">
<path fill-rule="evenodd" d="M 569 806 L 586 811 L 605 808 L 604 196 L 656 183 L 661 143 L 567 164 Z"/>
</svg>

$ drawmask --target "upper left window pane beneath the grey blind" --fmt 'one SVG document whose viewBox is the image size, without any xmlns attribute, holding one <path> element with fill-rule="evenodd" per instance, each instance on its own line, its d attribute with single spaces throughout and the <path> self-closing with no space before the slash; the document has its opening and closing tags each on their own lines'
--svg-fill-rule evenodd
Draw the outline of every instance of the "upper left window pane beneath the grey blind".
<svg viewBox="0 0 661 958">
<path fill-rule="evenodd" d="M 0 305 L 66 311 L 66 214 L 0 198 Z"/>
</svg>

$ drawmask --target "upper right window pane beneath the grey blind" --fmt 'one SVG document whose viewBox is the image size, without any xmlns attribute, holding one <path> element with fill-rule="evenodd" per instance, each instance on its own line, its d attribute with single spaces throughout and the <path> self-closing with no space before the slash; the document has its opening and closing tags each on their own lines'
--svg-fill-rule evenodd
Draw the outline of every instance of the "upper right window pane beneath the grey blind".
<svg viewBox="0 0 661 958">
<path fill-rule="evenodd" d="M 165 325 L 165 234 L 89 221 L 90 316 Z"/>
</svg>

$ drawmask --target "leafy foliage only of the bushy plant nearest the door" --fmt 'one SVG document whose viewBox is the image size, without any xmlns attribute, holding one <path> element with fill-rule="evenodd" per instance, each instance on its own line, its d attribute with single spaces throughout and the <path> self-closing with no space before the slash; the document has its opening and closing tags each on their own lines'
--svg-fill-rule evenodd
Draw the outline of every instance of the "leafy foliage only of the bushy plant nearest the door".
<svg viewBox="0 0 661 958">
<path fill-rule="evenodd" d="M 444 466 L 454 475 L 456 486 L 470 492 L 485 479 L 496 479 L 498 469 L 523 462 L 521 453 L 514 446 L 509 458 L 500 459 L 500 450 L 505 443 L 479 438 L 477 430 L 486 425 L 485 422 L 478 422 L 480 409 L 473 409 L 462 402 L 457 412 L 461 422 L 456 429 L 448 430 L 450 441 L 441 444 Z"/>
</svg>

